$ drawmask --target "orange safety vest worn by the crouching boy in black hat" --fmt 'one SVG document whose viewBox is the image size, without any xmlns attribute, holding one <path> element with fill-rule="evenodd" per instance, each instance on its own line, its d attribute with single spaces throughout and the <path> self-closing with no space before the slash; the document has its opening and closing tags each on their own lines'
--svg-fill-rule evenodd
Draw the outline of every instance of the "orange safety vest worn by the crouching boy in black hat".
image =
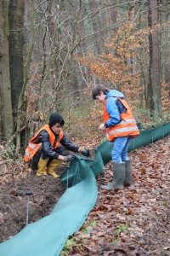
<svg viewBox="0 0 170 256">
<path fill-rule="evenodd" d="M 33 138 L 31 138 L 31 140 L 29 141 L 28 146 L 26 148 L 25 158 L 24 158 L 25 162 L 28 162 L 29 160 L 31 160 L 32 157 L 37 153 L 37 150 L 41 147 L 42 143 L 37 144 L 35 142 L 37 140 L 39 133 L 42 130 L 48 131 L 49 140 L 53 150 L 59 147 L 60 140 L 63 137 L 63 131 L 59 132 L 59 141 L 55 143 L 55 136 L 53 131 L 51 131 L 51 129 L 49 128 L 49 125 L 44 125 L 39 131 L 37 131 L 36 135 Z"/>
</svg>

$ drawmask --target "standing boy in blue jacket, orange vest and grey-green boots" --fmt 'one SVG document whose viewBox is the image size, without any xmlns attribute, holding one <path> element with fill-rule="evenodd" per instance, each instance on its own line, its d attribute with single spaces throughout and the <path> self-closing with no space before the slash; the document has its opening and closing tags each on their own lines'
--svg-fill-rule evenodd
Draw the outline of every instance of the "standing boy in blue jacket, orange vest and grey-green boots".
<svg viewBox="0 0 170 256">
<path fill-rule="evenodd" d="M 122 189 L 123 185 L 133 183 L 127 148 L 130 140 L 139 135 L 139 129 L 122 92 L 98 85 L 94 87 L 92 96 L 104 104 L 104 123 L 99 125 L 99 131 L 106 134 L 107 140 L 114 142 L 111 152 L 114 180 L 102 189 Z"/>
</svg>

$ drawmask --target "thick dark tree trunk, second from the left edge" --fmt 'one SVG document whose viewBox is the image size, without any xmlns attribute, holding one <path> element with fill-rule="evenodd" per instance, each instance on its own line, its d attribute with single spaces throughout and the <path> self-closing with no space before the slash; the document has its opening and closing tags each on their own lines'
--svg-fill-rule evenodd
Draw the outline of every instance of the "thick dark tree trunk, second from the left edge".
<svg viewBox="0 0 170 256">
<path fill-rule="evenodd" d="M 22 90 L 23 74 L 23 49 L 24 49 L 24 10 L 25 1 L 11 0 L 8 6 L 9 21 L 9 63 L 10 63 L 10 82 L 11 97 L 14 117 L 14 130 L 17 130 L 17 116 L 20 115 L 21 122 L 24 123 L 26 106 L 19 107 L 20 92 Z M 21 136 L 22 131 L 17 131 L 17 137 Z M 24 134 L 23 134 L 23 137 Z M 19 147 L 20 148 L 20 147 Z"/>
</svg>

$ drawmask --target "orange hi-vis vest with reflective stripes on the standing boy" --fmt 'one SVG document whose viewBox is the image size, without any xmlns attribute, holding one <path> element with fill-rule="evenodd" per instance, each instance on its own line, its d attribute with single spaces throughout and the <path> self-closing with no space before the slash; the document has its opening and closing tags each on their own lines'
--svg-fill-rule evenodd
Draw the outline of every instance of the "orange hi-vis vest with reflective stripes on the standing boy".
<svg viewBox="0 0 170 256">
<path fill-rule="evenodd" d="M 133 117 L 133 113 L 129 108 L 127 102 L 121 98 L 116 97 L 119 99 L 123 106 L 127 108 L 127 112 L 121 113 L 121 122 L 115 126 L 109 127 L 106 129 L 106 138 L 112 142 L 116 137 L 137 137 L 139 135 L 139 129 L 136 125 L 136 121 Z M 107 101 L 107 100 L 106 100 Z M 105 103 L 106 103 L 105 101 Z M 104 122 L 110 119 L 110 115 L 107 113 L 106 106 L 104 103 Z"/>
</svg>

